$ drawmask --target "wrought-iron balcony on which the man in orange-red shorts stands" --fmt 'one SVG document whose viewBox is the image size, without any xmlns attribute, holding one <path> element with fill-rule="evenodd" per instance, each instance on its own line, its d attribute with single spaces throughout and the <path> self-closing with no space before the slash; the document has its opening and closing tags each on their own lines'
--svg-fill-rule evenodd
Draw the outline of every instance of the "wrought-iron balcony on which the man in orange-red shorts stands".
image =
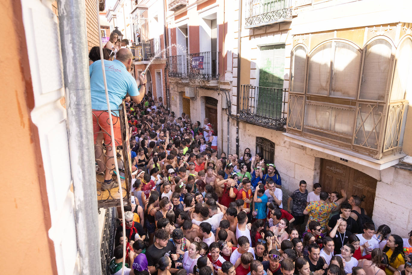
<svg viewBox="0 0 412 275">
<path fill-rule="evenodd" d="M 129 124 L 127 123 L 127 117 L 125 113 L 125 106 L 124 103 L 120 106 L 119 112 L 119 120 L 120 120 L 120 129 L 122 134 L 122 146 L 116 147 L 117 153 L 117 165 L 119 167 L 119 176 L 120 176 L 120 183 L 119 187 L 122 188 L 123 194 L 123 203 L 124 205 L 130 205 L 130 187 L 131 187 L 131 150 L 130 150 L 130 137 L 129 137 Z M 112 113 L 115 112 L 112 110 Z M 95 115 L 95 114 L 94 114 Z M 95 119 L 97 120 L 98 124 L 107 124 L 107 120 L 103 117 L 96 116 Z M 99 121 L 100 120 L 100 121 Z M 113 120 L 113 124 L 116 121 Z M 99 135 L 109 134 L 110 133 L 103 133 L 98 132 Z M 112 158 L 111 152 L 106 152 L 105 147 L 101 146 L 102 144 L 95 144 L 95 152 L 96 152 L 96 180 L 97 180 L 97 201 L 98 207 L 101 208 L 108 208 L 120 205 L 120 194 L 119 194 L 119 187 L 111 188 L 109 190 L 101 190 L 101 185 L 104 181 L 105 176 L 105 166 L 108 165 L 108 161 Z M 109 167 L 110 170 L 113 172 L 113 177 L 115 181 L 117 181 L 115 166 Z"/>
</svg>

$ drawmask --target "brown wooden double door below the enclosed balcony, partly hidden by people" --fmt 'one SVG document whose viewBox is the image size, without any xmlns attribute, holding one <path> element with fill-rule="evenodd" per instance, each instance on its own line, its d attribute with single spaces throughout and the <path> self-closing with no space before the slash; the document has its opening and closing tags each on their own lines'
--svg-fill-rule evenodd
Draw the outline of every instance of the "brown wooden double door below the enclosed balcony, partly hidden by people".
<svg viewBox="0 0 412 275">
<path fill-rule="evenodd" d="M 361 204 L 369 216 L 372 216 L 377 180 L 349 166 L 322 159 L 320 183 L 322 190 L 328 193 L 341 189 L 346 191 L 348 199 L 358 195 L 365 199 Z"/>
</svg>

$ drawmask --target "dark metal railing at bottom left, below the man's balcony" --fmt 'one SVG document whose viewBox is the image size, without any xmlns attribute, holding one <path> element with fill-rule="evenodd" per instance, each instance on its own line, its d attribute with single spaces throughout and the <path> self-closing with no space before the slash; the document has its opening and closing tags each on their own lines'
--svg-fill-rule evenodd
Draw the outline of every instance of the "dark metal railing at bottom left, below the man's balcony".
<svg viewBox="0 0 412 275">
<path fill-rule="evenodd" d="M 99 226 L 102 227 L 100 232 L 100 256 L 103 275 L 110 275 L 109 263 L 115 243 L 116 216 L 115 207 L 101 209 L 101 212 L 99 212 Z M 103 224 L 100 225 L 100 223 Z"/>
</svg>

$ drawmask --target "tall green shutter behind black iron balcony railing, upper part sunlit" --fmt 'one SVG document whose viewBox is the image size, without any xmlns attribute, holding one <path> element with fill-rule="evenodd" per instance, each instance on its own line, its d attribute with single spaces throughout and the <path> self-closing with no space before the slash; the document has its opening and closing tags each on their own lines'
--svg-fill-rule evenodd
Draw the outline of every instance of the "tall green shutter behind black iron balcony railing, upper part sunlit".
<svg viewBox="0 0 412 275">
<path fill-rule="evenodd" d="M 256 113 L 269 118 L 280 118 L 282 112 L 285 45 L 260 48 L 259 90 Z M 276 89 L 273 89 L 276 88 Z"/>
</svg>

